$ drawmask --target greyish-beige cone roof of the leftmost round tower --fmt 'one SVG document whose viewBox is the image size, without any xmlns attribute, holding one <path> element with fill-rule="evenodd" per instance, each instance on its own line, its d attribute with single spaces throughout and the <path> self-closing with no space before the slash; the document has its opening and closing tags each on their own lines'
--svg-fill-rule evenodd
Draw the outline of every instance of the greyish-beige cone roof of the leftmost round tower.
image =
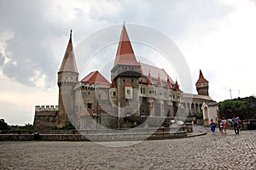
<svg viewBox="0 0 256 170">
<path fill-rule="evenodd" d="M 75 59 L 75 56 L 73 53 L 72 30 L 70 31 L 69 42 L 67 44 L 66 53 L 62 60 L 61 68 L 60 68 L 59 72 L 63 72 L 63 71 L 79 73 L 77 65 L 76 65 L 76 59 Z"/>
</svg>

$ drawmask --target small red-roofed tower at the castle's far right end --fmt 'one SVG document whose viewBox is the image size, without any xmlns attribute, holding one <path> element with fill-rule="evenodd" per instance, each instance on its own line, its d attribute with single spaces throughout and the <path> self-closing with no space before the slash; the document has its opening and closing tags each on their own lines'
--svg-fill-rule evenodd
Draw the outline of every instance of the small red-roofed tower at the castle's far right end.
<svg viewBox="0 0 256 170">
<path fill-rule="evenodd" d="M 208 93 L 209 82 L 207 81 L 207 79 L 205 79 L 201 70 L 199 73 L 199 78 L 198 78 L 197 82 L 195 83 L 195 86 L 196 86 L 196 91 L 197 91 L 198 95 L 209 96 L 209 93 Z"/>
</svg>

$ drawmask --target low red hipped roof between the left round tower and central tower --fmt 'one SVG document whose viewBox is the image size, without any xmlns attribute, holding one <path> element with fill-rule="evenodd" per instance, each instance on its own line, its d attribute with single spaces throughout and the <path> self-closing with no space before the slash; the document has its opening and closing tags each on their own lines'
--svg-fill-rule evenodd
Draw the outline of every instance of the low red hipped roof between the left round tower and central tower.
<svg viewBox="0 0 256 170">
<path fill-rule="evenodd" d="M 108 80 L 105 77 L 103 77 L 99 71 L 90 72 L 90 74 L 84 77 L 81 82 L 98 84 L 102 88 L 109 88 L 110 86 Z"/>
</svg>

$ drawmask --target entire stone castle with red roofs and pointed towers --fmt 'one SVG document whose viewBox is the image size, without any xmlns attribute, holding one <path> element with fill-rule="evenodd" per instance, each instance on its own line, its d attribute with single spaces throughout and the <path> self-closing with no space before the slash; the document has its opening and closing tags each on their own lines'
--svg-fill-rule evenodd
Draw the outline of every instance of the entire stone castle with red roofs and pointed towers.
<svg viewBox="0 0 256 170">
<path fill-rule="evenodd" d="M 186 94 L 164 69 L 137 62 L 123 26 L 111 70 L 111 82 L 99 71 L 79 80 L 72 31 L 58 71 L 58 106 L 36 106 L 34 127 L 55 129 L 73 124 L 78 129 L 126 128 L 130 116 L 174 117 L 203 113 L 205 121 L 216 117 L 218 105 L 208 94 L 209 82 L 200 71 L 198 94 Z"/>
</svg>

